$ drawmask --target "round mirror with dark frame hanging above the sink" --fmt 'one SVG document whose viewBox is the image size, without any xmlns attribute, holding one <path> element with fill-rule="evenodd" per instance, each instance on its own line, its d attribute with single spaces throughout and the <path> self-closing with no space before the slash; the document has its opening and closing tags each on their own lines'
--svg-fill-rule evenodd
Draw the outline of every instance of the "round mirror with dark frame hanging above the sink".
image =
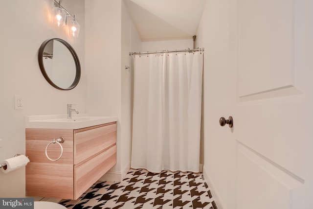
<svg viewBox="0 0 313 209">
<path fill-rule="evenodd" d="M 40 46 L 38 61 L 48 83 L 59 90 L 71 90 L 77 86 L 81 67 L 72 46 L 58 38 L 47 39 Z"/>
</svg>

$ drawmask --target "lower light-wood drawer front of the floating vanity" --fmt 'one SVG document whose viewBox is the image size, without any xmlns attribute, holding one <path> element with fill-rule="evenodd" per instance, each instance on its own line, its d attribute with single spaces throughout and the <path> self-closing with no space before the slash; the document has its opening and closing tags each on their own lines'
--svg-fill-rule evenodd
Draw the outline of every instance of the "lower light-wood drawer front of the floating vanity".
<svg viewBox="0 0 313 209">
<path fill-rule="evenodd" d="M 74 199 L 98 181 L 115 163 L 116 145 L 113 145 L 88 161 L 74 165 Z"/>
</svg>

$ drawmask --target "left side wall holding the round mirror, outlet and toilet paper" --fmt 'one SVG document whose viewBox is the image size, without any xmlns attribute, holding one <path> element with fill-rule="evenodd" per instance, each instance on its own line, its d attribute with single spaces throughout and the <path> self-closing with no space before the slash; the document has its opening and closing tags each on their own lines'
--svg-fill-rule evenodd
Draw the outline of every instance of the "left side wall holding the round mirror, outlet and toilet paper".
<svg viewBox="0 0 313 209">
<path fill-rule="evenodd" d="M 77 104 L 76 109 L 86 112 L 84 0 L 66 2 L 64 6 L 81 24 L 77 39 L 69 37 L 65 28 L 52 25 L 52 0 L 0 1 L 0 161 L 25 153 L 25 116 L 66 114 L 67 103 Z M 73 90 L 53 88 L 39 69 L 38 49 L 50 38 L 66 40 L 78 54 L 82 77 Z M 23 110 L 14 109 L 14 95 L 22 95 Z M 24 197 L 25 169 L 0 172 L 0 185 L 0 197 Z"/>
</svg>

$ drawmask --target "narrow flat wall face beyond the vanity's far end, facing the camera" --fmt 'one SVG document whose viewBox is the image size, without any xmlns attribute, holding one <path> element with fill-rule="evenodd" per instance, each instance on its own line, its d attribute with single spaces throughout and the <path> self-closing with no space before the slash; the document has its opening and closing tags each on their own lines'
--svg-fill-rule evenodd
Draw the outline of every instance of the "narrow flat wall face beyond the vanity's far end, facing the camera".
<svg viewBox="0 0 313 209">
<path fill-rule="evenodd" d="M 86 15 L 87 112 L 117 116 L 117 163 L 121 171 L 121 0 L 89 0 Z"/>
</svg>

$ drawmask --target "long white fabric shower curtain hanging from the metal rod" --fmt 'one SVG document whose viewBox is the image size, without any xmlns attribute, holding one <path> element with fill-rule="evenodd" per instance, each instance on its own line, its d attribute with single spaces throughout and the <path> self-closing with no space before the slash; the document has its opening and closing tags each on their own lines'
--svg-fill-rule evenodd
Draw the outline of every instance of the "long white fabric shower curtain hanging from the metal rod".
<svg viewBox="0 0 313 209">
<path fill-rule="evenodd" d="M 133 168 L 199 172 L 203 56 L 134 55 Z"/>
</svg>

